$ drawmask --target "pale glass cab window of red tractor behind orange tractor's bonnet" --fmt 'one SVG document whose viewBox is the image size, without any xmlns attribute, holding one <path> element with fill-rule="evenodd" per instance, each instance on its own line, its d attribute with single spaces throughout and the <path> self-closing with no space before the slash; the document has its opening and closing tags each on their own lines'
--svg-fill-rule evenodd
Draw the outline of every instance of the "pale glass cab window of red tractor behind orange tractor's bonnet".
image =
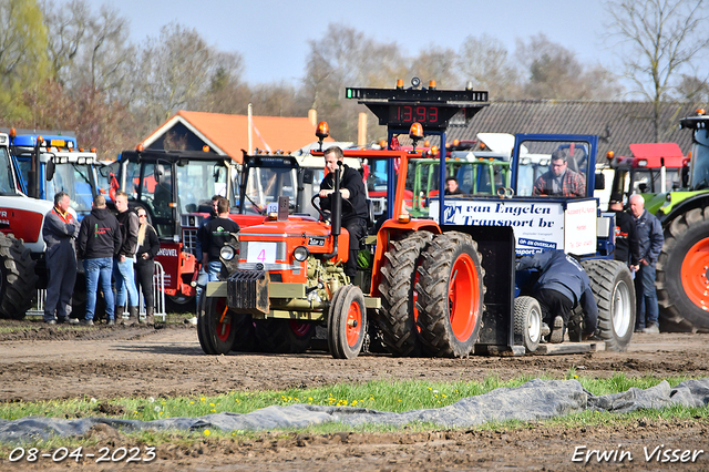
<svg viewBox="0 0 709 472">
<path fill-rule="evenodd" d="M 227 195 L 228 168 L 222 162 L 189 161 L 177 164 L 179 213 L 196 213 L 208 205 L 214 195 L 229 199 Z"/>
</svg>

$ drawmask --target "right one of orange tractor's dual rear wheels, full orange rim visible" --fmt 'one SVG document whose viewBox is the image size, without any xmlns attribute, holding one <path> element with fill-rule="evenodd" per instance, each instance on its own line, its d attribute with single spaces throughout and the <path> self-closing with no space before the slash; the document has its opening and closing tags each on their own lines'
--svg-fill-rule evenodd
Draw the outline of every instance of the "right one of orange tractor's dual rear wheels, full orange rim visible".
<svg viewBox="0 0 709 472">
<path fill-rule="evenodd" d="M 424 350 L 436 357 L 473 351 L 483 316 L 483 269 L 477 244 L 466 234 L 433 237 L 419 267 L 417 307 Z"/>
</svg>

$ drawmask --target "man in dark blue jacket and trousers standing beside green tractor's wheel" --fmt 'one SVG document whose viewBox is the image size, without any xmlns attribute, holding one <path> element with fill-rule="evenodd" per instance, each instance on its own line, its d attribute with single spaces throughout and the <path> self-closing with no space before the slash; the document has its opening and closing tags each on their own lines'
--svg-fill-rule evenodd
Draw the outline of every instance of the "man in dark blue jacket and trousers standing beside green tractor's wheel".
<svg viewBox="0 0 709 472">
<path fill-rule="evenodd" d="M 665 243 L 665 235 L 660 220 L 645 209 L 643 196 L 636 194 L 630 197 L 630 212 L 635 217 L 640 250 L 635 277 L 635 294 L 638 304 L 635 332 L 656 334 L 660 332 L 660 330 L 657 291 L 655 289 L 655 269 L 657 258 Z"/>
</svg>

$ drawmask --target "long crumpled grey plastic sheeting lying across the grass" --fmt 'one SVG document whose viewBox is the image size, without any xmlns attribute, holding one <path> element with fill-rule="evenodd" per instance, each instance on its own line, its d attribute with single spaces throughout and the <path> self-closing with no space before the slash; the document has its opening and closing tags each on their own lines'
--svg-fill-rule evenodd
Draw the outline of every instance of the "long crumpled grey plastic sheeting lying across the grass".
<svg viewBox="0 0 709 472">
<path fill-rule="evenodd" d="M 442 428 L 470 428 L 489 421 L 546 420 L 584 410 L 626 413 L 639 409 L 659 409 L 680 404 L 703 407 L 709 401 L 709 379 L 687 380 L 671 388 L 661 381 L 649 389 L 631 388 L 621 393 L 596 397 L 577 380 L 531 380 L 517 388 L 500 388 L 477 397 L 467 397 L 449 407 L 390 413 L 364 408 L 292 404 L 268 407 L 250 413 L 217 413 L 198 418 L 169 418 L 155 421 L 82 418 L 76 420 L 27 417 L 0 420 L 0 441 L 20 442 L 52 435 L 85 434 L 95 424 L 109 424 L 124 432 L 152 430 L 264 431 L 306 428 L 339 422 L 360 424 L 434 423 Z"/>
</svg>

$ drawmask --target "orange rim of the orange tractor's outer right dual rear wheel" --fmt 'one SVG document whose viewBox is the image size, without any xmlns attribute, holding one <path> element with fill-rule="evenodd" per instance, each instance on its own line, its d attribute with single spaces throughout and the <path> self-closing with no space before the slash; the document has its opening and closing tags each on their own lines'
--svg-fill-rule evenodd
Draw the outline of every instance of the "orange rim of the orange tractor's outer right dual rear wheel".
<svg viewBox="0 0 709 472">
<path fill-rule="evenodd" d="M 460 341 L 466 341 L 471 337 L 480 316 L 477 285 L 477 270 L 473 258 L 467 254 L 461 254 L 453 264 L 448 286 L 451 328 Z"/>
</svg>

